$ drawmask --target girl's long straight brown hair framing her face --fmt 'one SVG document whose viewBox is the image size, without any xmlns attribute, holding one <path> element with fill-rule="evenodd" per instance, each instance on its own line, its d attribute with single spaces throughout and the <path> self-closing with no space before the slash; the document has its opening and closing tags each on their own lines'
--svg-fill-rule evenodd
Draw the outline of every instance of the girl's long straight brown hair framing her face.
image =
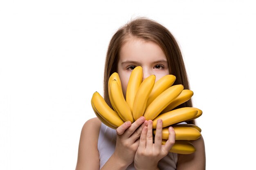
<svg viewBox="0 0 256 170">
<path fill-rule="evenodd" d="M 117 62 L 121 46 L 129 38 L 139 38 L 145 41 L 152 41 L 158 44 L 163 50 L 167 61 L 169 72 L 176 76 L 175 84 L 182 84 L 184 89 L 189 89 L 189 81 L 186 74 L 184 61 L 180 47 L 174 36 L 164 26 L 148 18 L 137 18 L 119 28 L 110 40 L 105 62 L 104 72 L 104 99 L 111 106 L 108 96 L 108 79 L 110 75 L 117 72 Z M 191 99 L 176 108 L 192 107 Z M 195 120 L 187 121 L 188 124 L 195 124 Z"/>
</svg>

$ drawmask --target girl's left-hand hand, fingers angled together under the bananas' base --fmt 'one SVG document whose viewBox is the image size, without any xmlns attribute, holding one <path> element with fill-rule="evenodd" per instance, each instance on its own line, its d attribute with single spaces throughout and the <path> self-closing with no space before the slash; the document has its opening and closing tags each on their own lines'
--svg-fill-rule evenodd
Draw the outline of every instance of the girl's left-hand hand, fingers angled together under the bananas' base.
<svg viewBox="0 0 256 170">
<path fill-rule="evenodd" d="M 147 124 L 148 121 L 145 121 L 145 117 L 140 117 L 132 124 L 130 121 L 126 121 L 116 129 L 117 143 L 113 156 L 122 165 L 129 166 L 134 161 L 139 146 L 139 137 Z"/>
</svg>

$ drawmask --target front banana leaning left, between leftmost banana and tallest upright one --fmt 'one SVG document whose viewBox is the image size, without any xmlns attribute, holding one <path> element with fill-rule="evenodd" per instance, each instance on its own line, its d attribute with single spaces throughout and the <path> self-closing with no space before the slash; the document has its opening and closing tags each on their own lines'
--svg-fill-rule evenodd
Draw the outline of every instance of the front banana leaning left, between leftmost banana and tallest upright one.
<svg viewBox="0 0 256 170">
<path fill-rule="evenodd" d="M 110 96 L 112 98 L 112 106 L 116 109 L 118 115 L 123 121 L 134 122 L 132 117 L 132 111 L 124 99 L 122 88 L 114 79 L 110 84 Z"/>
</svg>

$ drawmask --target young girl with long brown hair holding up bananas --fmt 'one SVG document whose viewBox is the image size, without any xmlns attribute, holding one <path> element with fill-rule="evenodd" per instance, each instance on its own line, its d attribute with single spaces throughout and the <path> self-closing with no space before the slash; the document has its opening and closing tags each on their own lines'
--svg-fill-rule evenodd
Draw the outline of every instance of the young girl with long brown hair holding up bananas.
<svg viewBox="0 0 256 170">
<path fill-rule="evenodd" d="M 124 95 L 131 71 L 142 66 L 145 79 L 155 75 L 176 76 L 175 84 L 189 89 L 186 69 L 179 46 L 173 35 L 161 24 L 146 18 L 132 20 L 113 35 L 106 56 L 104 99 L 108 97 L 108 78 L 119 74 Z M 192 107 L 189 100 L 180 107 Z M 195 121 L 186 123 L 195 124 Z M 204 170 L 205 150 L 202 137 L 191 141 L 196 152 L 182 155 L 169 152 L 175 143 L 175 132 L 169 128 L 169 139 L 162 145 L 162 120 L 157 121 L 155 140 L 152 120 L 140 117 L 125 122 L 116 130 L 99 119 L 88 120 L 81 131 L 76 170 Z"/>
</svg>

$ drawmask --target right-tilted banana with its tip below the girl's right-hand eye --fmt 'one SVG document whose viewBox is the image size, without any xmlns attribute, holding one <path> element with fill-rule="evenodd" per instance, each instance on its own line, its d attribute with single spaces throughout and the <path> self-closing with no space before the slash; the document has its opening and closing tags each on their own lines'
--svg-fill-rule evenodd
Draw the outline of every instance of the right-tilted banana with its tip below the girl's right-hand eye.
<svg viewBox="0 0 256 170">
<path fill-rule="evenodd" d="M 159 96 L 167 88 L 171 87 L 175 80 L 176 77 L 174 75 L 165 75 L 164 77 L 160 78 L 157 82 L 155 82 L 153 90 L 151 91 L 148 97 L 146 108 L 149 106 L 151 102 L 153 102 L 155 98 L 157 98 L 157 96 Z"/>
</svg>

